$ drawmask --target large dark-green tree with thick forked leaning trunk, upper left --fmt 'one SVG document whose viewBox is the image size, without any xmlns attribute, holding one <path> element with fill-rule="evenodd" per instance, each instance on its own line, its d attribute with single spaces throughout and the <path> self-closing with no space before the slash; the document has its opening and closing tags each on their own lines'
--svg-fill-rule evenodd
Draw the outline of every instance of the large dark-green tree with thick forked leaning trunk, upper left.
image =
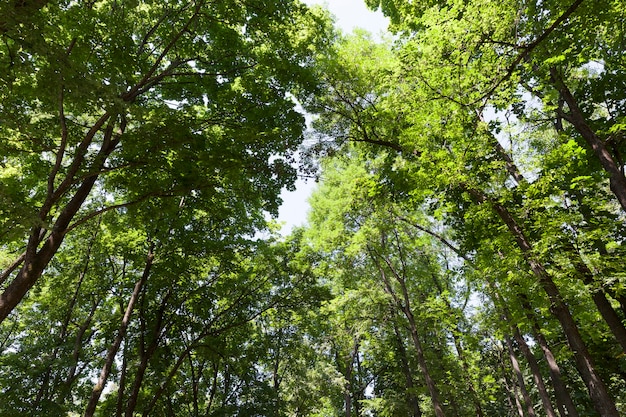
<svg viewBox="0 0 626 417">
<path fill-rule="evenodd" d="M 216 199 L 216 219 L 249 217 L 252 231 L 276 212 L 303 128 L 289 94 L 315 88 L 322 16 L 296 2 L 4 7 L 17 21 L 1 35 L 3 245 L 21 255 L 2 275 L 15 271 L 1 320 L 98 213 Z"/>
</svg>

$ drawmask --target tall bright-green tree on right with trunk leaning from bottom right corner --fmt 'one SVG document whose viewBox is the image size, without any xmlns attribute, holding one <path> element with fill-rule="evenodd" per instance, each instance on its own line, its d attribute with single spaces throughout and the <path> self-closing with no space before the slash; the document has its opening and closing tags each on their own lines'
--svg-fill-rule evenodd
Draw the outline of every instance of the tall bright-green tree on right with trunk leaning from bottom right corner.
<svg viewBox="0 0 626 417">
<path fill-rule="evenodd" d="M 484 37 L 493 35 L 488 39 L 498 39 L 509 33 L 507 25 L 513 25 L 511 22 L 515 20 L 507 19 L 513 13 L 498 20 L 500 5 L 485 8 L 482 3 L 452 3 L 444 7 L 413 3 L 403 11 L 396 10 L 402 32 L 395 67 L 394 64 L 391 68 L 388 66 L 389 62 L 394 62 L 393 58 L 377 57 L 381 65 L 375 64 L 376 59 L 361 64 L 358 59 L 349 58 L 356 55 L 352 53 L 344 58 L 346 64 L 341 70 L 328 71 L 329 94 L 320 101 L 317 127 L 327 135 L 330 146 L 326 147 L 335 146 L 336 153 L 337 150 L 351 152 L 346 151 L 349 147 L 337 146 L 344 144 L 345 139 L 361 142 L 360 152 L 370 155 L 365 162 L 367 172 L 380 174 L 371 187 L 376 190 L 372 193 L 385 188 L 387 198 L 429 207 L 430 214 L 442 219 L 453 239 L 459 242 L 456 246 L 466 254 L 466 261 L 477 263 L 482 269 L 494 259 L 507 259 L 515 268 L 531 272 L 534 278 L 511 277 L 511 282 L 525 288 L 523 293 L 537 284 L 545 291 L 547 300 L 535 297 L 533 308 L 545 308 L 560 323 L 559 332 L 571 346 L 598 412 L 617 415 L 609 392 L 619 392 L 616 387 L 620 384 L 611 388 L 605 386 L 602 380 L 609 381 L 611 377 L 603 372 L 602 366 L 593 364 L 594 360 L 603 362 L 603 354 L 601 350 L 590 348 L 599 339 L 593 332 L 590 334 L 590 327 L 585 325 L 589 322 L 586 319 L 589 310 L 570 307 L 575 304 L 568 301 L 582 303 L 582 298 L 588 305 L 586 303 L 593 300 L 597 312 L 609 326 L 602 331 L 612 332 L 618 342 L 622 340 L 623 323 L 607 298 L 608 295 L 615 301 L 620 299 L 620 294 L 608 284 L 613 279 L 594 273 L 585 251 L 578 249 L 598 245 L 598 242 L 602 247 L 603 239 L 591 236 L 607 233 L 607 230 L 612 230 L 608 232 L 611 238 L 620 239 L 617 236 L 621 228 L 613 229 L 611 225 L 615 223 L 608 220 L 618 217 L 619 213 L 606 199 L 602 173 L 598 175 L 593 165 L 567 162 L 562 151 L 565 146 L 560 148 L 558 156 L 560 166 L 565 169 L 557 170 L 545 157 L 549 155 L 556 160 L 557 154 L 546 155 L 538 149 L 542 140 L 543 144 L 548 144 L 548 149 L 558 143 L 552 141 L 554 132 L 536 128 L 518 136 L 526 141 L 520 142 L 520 148 L 535 164 L 525 164 L 520 170 L 500 142 L 502 121 L 496 119 L 488 123 L 484 117 L 488 106 L 506 109 L 511 97 L 523 102 L 523 96 L 516 95 L 514 82 L 519 81 L 517 73 L 513 77 L 513 71 L 526 53 L 537 47 L 542 37 L 548 36 L 559 23 L 566 21 L 577 6 L 564 11 L 554 26 L 538 35 L 537 45 L 515 56 L 511 65 L 503 66 L 507 55 L 497 47 L 480 49 L 483 48 L 481 42 L 497 45 L 497 42 L 485 41 Z M 460 11 L 463 13 L 459 14 Z M 340 51 L 356 46 L 363 51 L 360 57 L 372 55 L 373 47 L 363 46 L 362 41 L 347 44 L 350 46 L 340 45 Z M 460 62 L 465 64 L 459 65 Z M 503 76 L 494 80 L 491 75 L 502 74 L 502 68 Z M 377 79 L 377 76 L 382 77 L 383 82 L 375 86 L 363 81 Z M 512 106 L 511 111 L 516 111 L 516 107 Z M 530 117 L 515 120 L 508 127 L 523 128 L 527 120 Z M 553 125 L 550 127 L 554 129 Z M 367 140 L 372 137 L 376 137 L 376 141 Z M 375 158 L 385 163 L 372 162 Z M 530 169 L 534 170 L 533 179 L 528 181 L 522 172 Z M 572 182 L 564 184 L 563 178 L 565 181 L 571 178 Z M 583 178 L 589 181 L 585 186 L 600 197 L 592 210 L 606 218 L 606 223 L 602 220 L 589 227 L 585 220 L 581 221 L 581 218 L 591 219 L 590 203 L 578 204 L 580 198 L 570 190 Z M 599 223 L 606 228 L 601 229 Z M 494 228 L 494 225 L 499 227 Z M 569 230 L 576 232 L 570 234 Z M 554 252 L 557 247 L 563 250 Z M 605 258 L 604 262 L 608 264 L 610 260 Z M 503 268 L 506 267 L 503 265 Z M 576 277 L 578 282 L 571 277 Z M 599 290 L 590 289 L 591 285 L 597 285 Z M 611 342 L 606 346 L 605 350 L 615 352 Z M 620 374 L 619 367 L 613 369 L 613 375 Z"/>
</svg>

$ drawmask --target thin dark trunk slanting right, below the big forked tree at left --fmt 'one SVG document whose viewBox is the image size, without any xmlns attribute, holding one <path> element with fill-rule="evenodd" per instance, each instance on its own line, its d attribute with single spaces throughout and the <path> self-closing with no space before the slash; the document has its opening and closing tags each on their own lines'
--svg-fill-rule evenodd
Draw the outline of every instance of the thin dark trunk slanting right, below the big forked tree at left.
<svg viewBox="0 0 626 417">
<path fill-rule="evenodd" d="M 139 294 L 141 293 L 144 284 L 148 280 L 148 275 L 150 275 L 150 269 L 152 268 L 152 262 L 154 261 L 154 244 L 150 245 L 150 249 L 148 250 L 148 256 L 146 259 L 146 265 L 143 270 L 143 274 L 137 283 L 135 284 L 135 288 L 133 288 L 133 292 L 128 300 L 128 305 L 126 306 L 126 311 L 124 312 L 124 317 L 122 318 L 122 323 L 120 324 L 120 328 L 117 331 L 117 336 L 115 340 L 109 347 L 107 351 L 107 355 L 104 361 L 104 366 L 100 372 L 100 377 L 98 378 L 98 382 L 93 388 L 91 393 L 91 398 L 87 403 L 87 407 L 85 408 L 84 417 L 92 417 L 94 412 L 96 411 L 96 407 L 98 405 L 98 401 L 100 400 L 100 395 L 102 394 L 102 390 L 105 387 L 107 378 L 111 373 L 111 368 L 113 367 L 113 361 L 115 359 L 115 355 L 122 344 L 122 340 L 126 336 L 126 330 L 128 329 L 128 325 L 130 323 L 130 317 L 132 315 L 133 309 L 135 308 L 135 303 L 139 298 Z"/>
</svg>

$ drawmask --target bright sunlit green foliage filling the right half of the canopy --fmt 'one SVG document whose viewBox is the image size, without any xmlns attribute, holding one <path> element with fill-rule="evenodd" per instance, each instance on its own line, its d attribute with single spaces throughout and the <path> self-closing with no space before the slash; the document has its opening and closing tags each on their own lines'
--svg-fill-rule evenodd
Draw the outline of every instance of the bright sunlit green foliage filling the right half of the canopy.
<svg viewBox="0 0 626 417">
<path fill-rule="evenodd" d="M 555 320 L 555 297 L 561 298 L 609 397 L 619 403 L 615 381 L 623 364 L 603 358 L 619 356 L 621 348 L 592 296 L 606 294 L 621 320 L 615 326 L 623 329 L 625 299 L 613 257 L 624 236 L 615 200 L 621 141 L 613 142 L 623 94 L 611 87 L 621 85 L 623 65 L 615 57 L 623 45 L 608 35 L 612 27 L 622 32 L 623 10 L 585 2 L 367 4 L 392 21 L 391 56 L 372 54 L 380 46 L 363 37 L 343 40 L 337 64 L 326 68 L 327 94 L 309 106 L 319 114 L 313 150 L 327 156 L 311 214 L 312 241 L 326 253 L 324 273 L 337 276 L 331 282 L 339 294 L 359 282 L 349 271 L 359 271 L 359 280 L 378 276 L 369 286 L 383 286 L 379 274 L 402 277 L 410 295 L 400 299 L 419 306 L 412 313 L 427 341 L 427 362 L 454 375 L 437 375 L 450 387 L 448 398 L 471 386 L 457 383 L 464 366 L 489 363 L 478 366 L 485 374 L 474 386 L 486 384 L 480 399 L 494 415 L 509 412 L 492 406 L 509 396 L 497 387 L 498 369 L 507 384 L 515 379 L 494 338 L 515 328 L 535 343 L 543 335 L 562 369 L 571 371 L 572 352 L 561 348 L 571 329 L 562 317 L 561 326 Z M 607 145 L 604 154 L 593 135 Z M 621 173 L 607 168 L 607 154 Z M 398 223 L 407 219 L 417 227 L 405 243 L 406 225 Z M 433 268 L 443 265 L 452 280 L 433 293 L 421 277 L 437 276 Z M 547 279 L 556 292 L 547 290 Z M 383 287 L 400 294 L 401 284 L 390 279 Z M 450 307 L 468 304 L 450 314 Z M 459 352 L 455 358 L 437 343 L 455 334 L 466 335 L 475 362 L 461 365 Z M 536 344 L 532 351 L 540 353 Z M 568 378 L 567 389 L 586 412 L 590 401 L 580 380 Z M 382 396 L 366 403 L 374 413 L 393 415 L 398 391 L 384 392 L 382 381 Z M 539 402 L 536 391 L 531 395 Z M 447 407 L 476 415 L 454 401 Z"/>
</svg>

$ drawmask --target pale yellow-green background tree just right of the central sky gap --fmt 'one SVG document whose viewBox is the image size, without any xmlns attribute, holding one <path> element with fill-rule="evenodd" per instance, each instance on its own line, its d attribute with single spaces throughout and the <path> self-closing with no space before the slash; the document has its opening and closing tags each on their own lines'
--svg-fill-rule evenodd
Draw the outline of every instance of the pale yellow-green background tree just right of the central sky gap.
<svg viewBox="0 0 626 417">
<path fill-rule="evenodd" d="M 385 366 L 395 367 L 401 380 L 414 386 L 406 394 L 392 394 L 383 388 L 386 379 L 370 371 L 373 389 L 383 395 L 365 402 L 381 411 L 394 407 L 394 395 L 406 395 L 406 409 L 419 415 L 420 405 L 414 397 L 417 383 L 413 380 L 419 370 L 420 389 L 432 400 L 436 413 L 446 412 L 440 400 L 445 398 L 450 413 L 480 414 L 476 374 L 470 371 L 476 358 L 463 348 L 465 343 L 475 342 L 465 334 L 462 309 L 454 305 L 457 295 L 448 281 L 453 275 L 442 275 L 443 266 L 435 259 L 436 252 L 431 252 L 432 236 L 411 233 L 414 228 L 406 221 L 407 216 L 416 214 L 402 211 L 403 217 L 401 206 L 387 200 L 390 195 L 378 187 L 375 172 L 385 158 L 365 162 L 361 156 L 355 150 L 350 162 L 333 160 L 324 165 L 323 186 L 312 200 L 310 233 L 314 247 L 328 253 L 328 262 L 333 265 L 330 271 L 337 271 L 326 277 L 339 285 L 337 299 L 353 305 L 357 314 L 367 311 L 373 315 L 356 323 L 374 321 L 365 334 L 375 334 L 376 341 L 367 340 L 371 346 L 385 340 L 384 347 L 378 349 L 398 351 L 397 362 Z M 369 164 L 367 170 L 364 162 Z M 374 291 L 385 294 L 382 306 L 370 304 L 380 298 Z M 364 306 L 366 303 L 369 307 Z M 344 310 L 336 314 L 346 315 Z M 414 358 L 415 370 L 407 370 L 407 351 Z M 471 399 L 467 405 L 460 400 L 464 395 Z"/>
</svg>

